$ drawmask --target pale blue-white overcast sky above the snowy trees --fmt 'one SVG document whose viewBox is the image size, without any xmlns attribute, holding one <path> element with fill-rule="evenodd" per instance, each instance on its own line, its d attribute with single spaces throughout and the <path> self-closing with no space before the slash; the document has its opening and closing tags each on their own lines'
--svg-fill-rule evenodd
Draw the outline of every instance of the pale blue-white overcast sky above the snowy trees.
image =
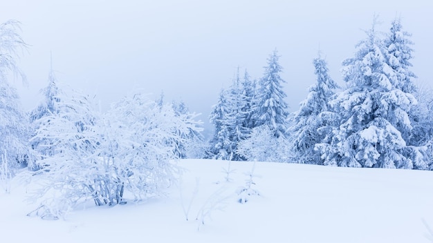
<svg viewBox="0 0 433 243">
<path fill-rule="evenodd" d="M 237 66 L 259 78 L 275 48 L 291 111 L 315 82 L 319 48 L 340 82 L 342 60 L 353 56 L 375 13 L 382 30 L 403 17 L 415 43 L 413 70 L 433 84 L 432 10 L 430 0 L 3 0 L 0 22 L 21 21 L 30 45 L 19 61 L 28 87 L 15 82 L 26 110 L 46 86 L 52 52 L 57 79 L 97 95 L 104 108 L 136 88 L 164 90 L 167 100 L 183 99 L 208 122 Z"/>
</svg>

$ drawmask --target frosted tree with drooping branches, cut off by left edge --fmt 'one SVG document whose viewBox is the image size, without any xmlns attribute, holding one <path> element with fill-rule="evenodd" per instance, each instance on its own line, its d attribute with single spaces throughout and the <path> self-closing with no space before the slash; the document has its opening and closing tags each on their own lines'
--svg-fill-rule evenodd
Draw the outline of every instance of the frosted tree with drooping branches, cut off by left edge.
<svg viewBox="0 0 433 243">
<path fill-rule="evenodd" d="M 8 75 L 25 77 L 18 68 L 16 59 L 26 43 L 18 33 L 19 22 L 0 24 L 0 163 L 8 163 L 10 173 L 19 166 L 26 166 L 31 151 L 28 149 L 30 126 L 21 108 L 17 90 L 8 83 Z M 1 170 L 0 170 L 1 173 Z"/>
</svg>

